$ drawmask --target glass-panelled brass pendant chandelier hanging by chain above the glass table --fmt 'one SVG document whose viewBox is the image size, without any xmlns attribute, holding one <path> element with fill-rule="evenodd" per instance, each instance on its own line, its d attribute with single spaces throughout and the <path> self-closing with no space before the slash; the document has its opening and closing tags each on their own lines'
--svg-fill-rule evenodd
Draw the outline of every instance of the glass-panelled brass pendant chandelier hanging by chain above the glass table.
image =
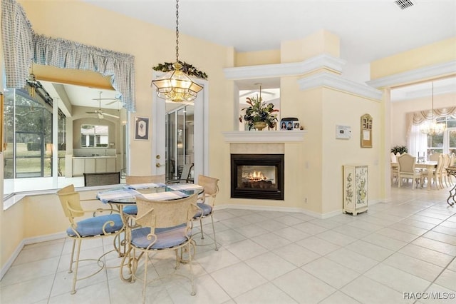
<svg viewBox="0 0 456 304">
<path fill-rule="evenodd" d="M 155 79 L 152 83 L 157 87 L 157 96 L 169 101 L 192 101 L 202 86 L 192 81 L 182 70 L 179 61 L 179 0 L 176 0 L 176 62 L 172 64 L 174 70 Z"/>
</svg>

